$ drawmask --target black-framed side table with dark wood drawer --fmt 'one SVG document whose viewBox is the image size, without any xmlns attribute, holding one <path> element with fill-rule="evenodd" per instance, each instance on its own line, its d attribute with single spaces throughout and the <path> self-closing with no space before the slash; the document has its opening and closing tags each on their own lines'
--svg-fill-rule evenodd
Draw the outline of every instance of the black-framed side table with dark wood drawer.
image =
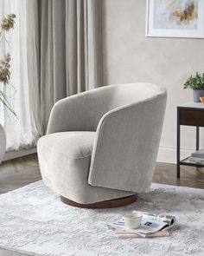
<svg viewBox="0 0 204 256">
<path fill-rule="evenodd" d="M 204 104 L 190 102 L 177 106 L 177 178 L 180 178 L 180 166 L 204 167 L 204 164 L 189 161 L 189 156 L 180 160 L 181 125 L 194 126 L 196 128 L 196 150 L 199 149 L 199 128 L 204 127 Z"/>
</svg>

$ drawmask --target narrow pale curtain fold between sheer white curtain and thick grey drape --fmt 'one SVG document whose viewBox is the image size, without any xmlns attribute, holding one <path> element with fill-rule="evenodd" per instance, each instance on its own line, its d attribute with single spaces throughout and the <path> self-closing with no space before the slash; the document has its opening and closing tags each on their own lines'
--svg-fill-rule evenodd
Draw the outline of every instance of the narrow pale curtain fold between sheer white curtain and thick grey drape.
<svg viewBox="0 0 204 256">
<path fill-rule="evenodd" d="M 32 134 L 36 141 L 43 135 L 41 127 L 41 72 L 40 72 L 40 23 L 38 17 L 38 4 L 35 0 L 29 0 L 33 9 L 27 6 L 27 62 L 29 84 L 29 115 L 31 119 Z M 27 3 L 28 4 L 28 3 Z M 36 144 L 36 143 L 35 143 Z"/>
</svg>

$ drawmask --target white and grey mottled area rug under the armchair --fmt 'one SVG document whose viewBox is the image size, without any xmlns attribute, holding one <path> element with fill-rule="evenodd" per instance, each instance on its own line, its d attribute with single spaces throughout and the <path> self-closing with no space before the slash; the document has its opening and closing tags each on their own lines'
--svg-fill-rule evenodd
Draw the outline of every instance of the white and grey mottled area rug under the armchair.
<svg viewBox="0 0 204 256">
<path fill-rule="evenodd" d="M 140 210 L 169 213 L 167 238 L 118 240 L 106 223 Z M 0 247 L 35 255 L 204 255 L 204 190 L 152 185 L 135 203 L 114 209 L 63 204 L 42 181 L 0 196 Z"/>
</svg>

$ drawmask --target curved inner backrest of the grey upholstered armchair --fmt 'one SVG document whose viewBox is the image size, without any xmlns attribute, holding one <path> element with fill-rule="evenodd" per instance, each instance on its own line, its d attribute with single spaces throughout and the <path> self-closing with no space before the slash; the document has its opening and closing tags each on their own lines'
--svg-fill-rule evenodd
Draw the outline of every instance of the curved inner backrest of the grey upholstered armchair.
<svg viewBox="0 0 204 256">
<path fill-rule="evenodd" d="M 147 100 L 163 92 L 160 87 L 143 82 L 118 84 L 69 96 L 54 104 L 47 133 L 96 131 L 100 119 L 114 108 Z"/>
</svg>

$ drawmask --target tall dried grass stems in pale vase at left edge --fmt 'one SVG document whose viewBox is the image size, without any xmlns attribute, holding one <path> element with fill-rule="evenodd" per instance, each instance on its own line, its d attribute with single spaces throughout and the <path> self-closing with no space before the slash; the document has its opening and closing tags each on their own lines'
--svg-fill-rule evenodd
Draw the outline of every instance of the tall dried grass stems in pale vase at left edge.
<svg viewBox="0 0 204 256">
<path fill-rule="evenodd" d="M 3 36 L 10 29 L 14 28 L 14 23 L 16 15 L 10 14 L 3 18 L 2 23 L 0 23 L 0 40 L 2 41 Z M 5 38 L 4 38 L 5 39 Z M 5 39 L 6 40 L 6 39 Z M 13 115 L 16 115 L 14 109 L 10 105 L 10 100 L 4 93 L 4 87 L 12 86 L 10 84 L 10 54 L 7 53 L 3 59 L 0 60 L 0 84 L 3 84 L 0 87 L 0 103 L 3 103 L 3 106 L 8 109 Z M 6 150 L 6 135 L 3 129 L 2 124 L 0 123 L 0 163 L 3 160 L 3 156 Z"/>
</svg>

